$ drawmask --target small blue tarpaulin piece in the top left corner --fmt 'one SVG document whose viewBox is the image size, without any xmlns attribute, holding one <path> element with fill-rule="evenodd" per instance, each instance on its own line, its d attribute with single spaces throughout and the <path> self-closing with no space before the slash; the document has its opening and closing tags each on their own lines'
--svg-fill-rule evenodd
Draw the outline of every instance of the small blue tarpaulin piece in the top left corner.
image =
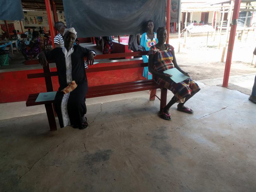
<svg viewBox="0 0 256 192">
<path fill-rule="evenodd" d="M 22 20 L 21 0 L 0 0 L 0 20 Z"/>
</svg>

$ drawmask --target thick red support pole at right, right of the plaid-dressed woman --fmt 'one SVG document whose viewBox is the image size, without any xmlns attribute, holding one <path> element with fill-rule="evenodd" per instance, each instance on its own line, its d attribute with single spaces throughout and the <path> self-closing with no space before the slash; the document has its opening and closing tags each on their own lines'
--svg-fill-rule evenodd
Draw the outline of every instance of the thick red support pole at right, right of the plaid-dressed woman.
<svg viewBox="0 0 256 192">
<path fill-rule="evenodd" d="M 233 16 L 232 16 L 232 24 L 231 24 L 230 35 L 229 35 L 228 54 L 226 59 L 222 87 L 228 87 L 228 84 L 229 84 L 229 73 L 230 73 L 230 67 L 231 67 L 231 61 L 232 61 L 232 53 L 233 53 L 234 42 L 235 42 L 235 32 L 236 32 L 236 26 L 238 21 L 240 4 L 241 4 L 241 0 L 235 0 L 235 6 L 234 6 Z"/>
</svg>

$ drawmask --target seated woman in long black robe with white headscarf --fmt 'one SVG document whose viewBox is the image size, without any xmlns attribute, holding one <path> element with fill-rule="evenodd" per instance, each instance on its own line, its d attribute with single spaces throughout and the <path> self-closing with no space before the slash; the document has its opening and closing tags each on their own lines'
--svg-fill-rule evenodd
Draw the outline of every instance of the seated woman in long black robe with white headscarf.
<svg viewBox="0 0 256 192">
<path fill-rule="evenodd" d="M 88 127 L 85 96 L 88 90 L 84 59 L 88 64 L 94 63 L 93 50 L 74 45 L 76 30 L 72 27 L 65 29 L 63 33 L 64 47 L 56 47 L 48 53 L 39 54 L 39 63 L 47 65 L 47 60 L 55 60 L 59 88 L 54 99 L 60 127 L 73 125 L 74 128 L 85 129 Z"/>
</svg>

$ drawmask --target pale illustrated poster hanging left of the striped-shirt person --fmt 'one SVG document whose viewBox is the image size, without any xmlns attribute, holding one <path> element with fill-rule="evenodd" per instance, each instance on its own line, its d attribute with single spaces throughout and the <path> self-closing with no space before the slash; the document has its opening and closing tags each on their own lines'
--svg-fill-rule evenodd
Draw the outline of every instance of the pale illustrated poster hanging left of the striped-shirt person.
<svg viewBox="0 0 256 192">
<path fill-rule="evenodd" d="M 46 11 L 24 11 L 25 27 L 46 27 L 49 26 Z"/>
</svg>

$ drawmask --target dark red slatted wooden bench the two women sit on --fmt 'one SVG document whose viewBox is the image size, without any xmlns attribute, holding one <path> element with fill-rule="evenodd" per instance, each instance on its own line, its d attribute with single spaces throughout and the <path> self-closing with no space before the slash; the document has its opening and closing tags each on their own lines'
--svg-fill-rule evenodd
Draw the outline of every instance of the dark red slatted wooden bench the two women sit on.
<svg viewBox="0 0 256 192">
<path fill-rule="evenodd" d="M 131 57 L 131 56 L 141 56 L 146 55 L 147 51 L 138 51 L 130 53 L 113 53 L 106 55 L 97 55 L 94 59 L 107 59 L 107 58 L 120 58 L 120 57 Z M 86 60 L 86 57 L 84 58 Z M 39 64 L 38 60 L 25 61 L 27 64 Z M 48 63 L 54 63 L 53 61 L 48 61 Z M 119 70 L 119 69 L 131 69 L 138 67 L 146 67 L 148 63 L 143 63 L 142 59 L 128 59 L 125 61 L 115 60 L 113 62 L 106 63 L 97 63 L 96 65 L 89 66 L 86 69 L 86 73 L 99 72 L 99 71 L 110 71 L 110 70 Z M 58 76 L 57 71 L 51 71 L 50 65 L 43 67 L 43 73 L 28 74 L 27 78 L 45 78 L 46 90 L 47 92 L 53 91 L 52 86 L 52 76 Z M 120 77 L 121 78 L 121 77 Z M 156 89 L 161 88 L 161 99 L 155 95 Z M 150 100 L 155 100 L 155 97 L 161 100 L 160 111 L 166 105 L 167 89 L 160 87 L 154 80 L 143 80 L 143 81 L 132 81 L 118 84 L 110 85 L 100 85 L 94 87 L 88 87 L 88 93 L 86 98 L 115 95 L 121 93 L 131 93 L 136 91 L 152 90 L 150 94 Z M 55 121 L 55 112 L 53 106 L 53 100 L 44 101 L 44 102 L 35 102 L 39 93 L 30 94 L 28 96 L 26 106 L 34 105 L 45 105 L 46 114 L 48 117 L 48 122 L 50 125 L 50 130 L 57 130 L 57 125 Z"/>
</svg>

